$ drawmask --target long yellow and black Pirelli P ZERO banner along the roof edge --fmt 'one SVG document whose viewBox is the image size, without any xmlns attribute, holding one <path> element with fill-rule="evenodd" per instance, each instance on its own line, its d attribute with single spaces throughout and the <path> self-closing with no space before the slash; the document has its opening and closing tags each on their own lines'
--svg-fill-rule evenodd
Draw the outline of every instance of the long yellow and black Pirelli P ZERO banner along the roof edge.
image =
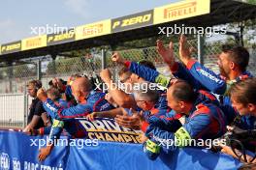
<svg viewBox="0 0 256 170">
<path fill-rule="evenodd" d="M 35 49 L 63 42 L 80 41 L 112 33 L 133 30 L 201 14 L 209 14 L 210 0 L 184 0 L 138 14 L 85 24 L 64 33 L 43 35 L 1 44 L 0 54 Z"/>
</svg>

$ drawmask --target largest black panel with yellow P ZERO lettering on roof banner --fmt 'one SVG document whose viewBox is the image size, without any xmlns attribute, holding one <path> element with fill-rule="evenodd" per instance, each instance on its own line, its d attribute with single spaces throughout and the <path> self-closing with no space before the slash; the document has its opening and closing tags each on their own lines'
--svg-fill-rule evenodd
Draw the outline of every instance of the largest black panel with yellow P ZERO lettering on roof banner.
<svg viewBox="0 0 256 170">
<path fill-rule="evenodd" d="M 141 28 L 153 24 L 153 10 L 112 19 L 112 33 Z"/>
</svg>

